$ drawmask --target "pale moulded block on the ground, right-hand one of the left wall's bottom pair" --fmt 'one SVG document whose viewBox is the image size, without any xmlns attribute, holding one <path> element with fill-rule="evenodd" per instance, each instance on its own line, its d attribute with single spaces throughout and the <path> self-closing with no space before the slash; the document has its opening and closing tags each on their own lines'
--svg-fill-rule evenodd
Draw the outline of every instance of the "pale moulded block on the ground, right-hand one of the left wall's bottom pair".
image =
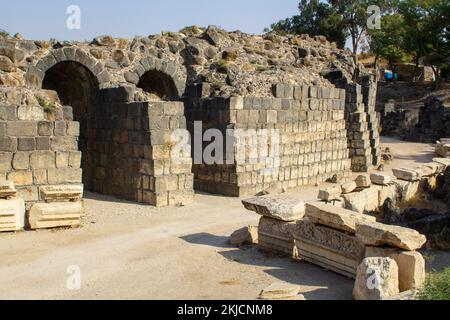
<svg viewBox="0 0 450 320">
<path fill-rule="evenodd" d="M 31 229 L 77 227 L 83 211 L 81 202 L 36 203 L 29 212 Z"/>
</svg>

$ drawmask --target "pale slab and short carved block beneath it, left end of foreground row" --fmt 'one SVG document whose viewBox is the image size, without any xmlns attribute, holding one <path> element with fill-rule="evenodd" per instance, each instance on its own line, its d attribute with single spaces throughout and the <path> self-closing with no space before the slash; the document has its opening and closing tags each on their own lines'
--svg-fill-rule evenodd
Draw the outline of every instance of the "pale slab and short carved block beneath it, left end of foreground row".
<svg viewBox="0 0 450 320">
<path fill-rule="evenodd" d="M 294 257 L 294 228 L 305 214 L 305 204 L 289 198 L 256 197 L 242 201 L 247 210 L 261 215 L 258 226 L 258 246 Z"/>
</svg>

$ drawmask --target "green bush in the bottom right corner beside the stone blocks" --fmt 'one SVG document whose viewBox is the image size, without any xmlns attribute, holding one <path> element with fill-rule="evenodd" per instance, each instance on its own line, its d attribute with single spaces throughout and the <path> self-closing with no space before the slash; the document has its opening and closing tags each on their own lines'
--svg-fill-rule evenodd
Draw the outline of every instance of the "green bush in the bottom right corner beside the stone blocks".
<svg viewBox="0 0 450 320">
<path fill-rule="evenodd" d="M 431 274 L 416 296 L 417 300 L 450 300 L 450 267 Z"/>
</svg>

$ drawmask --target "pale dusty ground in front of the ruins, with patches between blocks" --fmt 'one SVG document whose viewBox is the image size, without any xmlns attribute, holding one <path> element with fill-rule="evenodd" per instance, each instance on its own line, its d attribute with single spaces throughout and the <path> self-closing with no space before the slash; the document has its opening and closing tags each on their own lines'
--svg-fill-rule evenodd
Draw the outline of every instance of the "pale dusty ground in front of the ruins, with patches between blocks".
<svg viewBox="0 0 450 320">
<path fill-rule="evenodd" d="M 396 165 L 427 162 L 429 145 L 385 139 Z M 287 194 L 305 200 L 317 188 Z M 0 235 L 0 299 L 255 299 L 277 281 L 301 286 L 306 299 L 351 299 L 353 281 L 307 263 L 237 249 L 227 237 L 258 216 L 239 199 L 198 194 L 187 207 L 155 209 L 86 194 L 83 227 Z M 429 267 L 450 254 L 427 253 Z M 79 266 L 81 289 L 69 290 Z"/>
</svg>

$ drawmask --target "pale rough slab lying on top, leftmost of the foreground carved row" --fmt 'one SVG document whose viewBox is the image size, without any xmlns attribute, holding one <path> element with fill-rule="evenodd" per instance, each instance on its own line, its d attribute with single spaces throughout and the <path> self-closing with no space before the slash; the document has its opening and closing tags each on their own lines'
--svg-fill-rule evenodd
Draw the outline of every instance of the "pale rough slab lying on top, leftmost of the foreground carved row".
<svg viewBox="0 0 450 320">
<path fill-rule="evenodd" d="M 305 203 L 296 199 L 276 197 L 254 197 L 243 200 L 247 210 L 281 221 L 295 221 L 305 215 Z"/>
</svg>

